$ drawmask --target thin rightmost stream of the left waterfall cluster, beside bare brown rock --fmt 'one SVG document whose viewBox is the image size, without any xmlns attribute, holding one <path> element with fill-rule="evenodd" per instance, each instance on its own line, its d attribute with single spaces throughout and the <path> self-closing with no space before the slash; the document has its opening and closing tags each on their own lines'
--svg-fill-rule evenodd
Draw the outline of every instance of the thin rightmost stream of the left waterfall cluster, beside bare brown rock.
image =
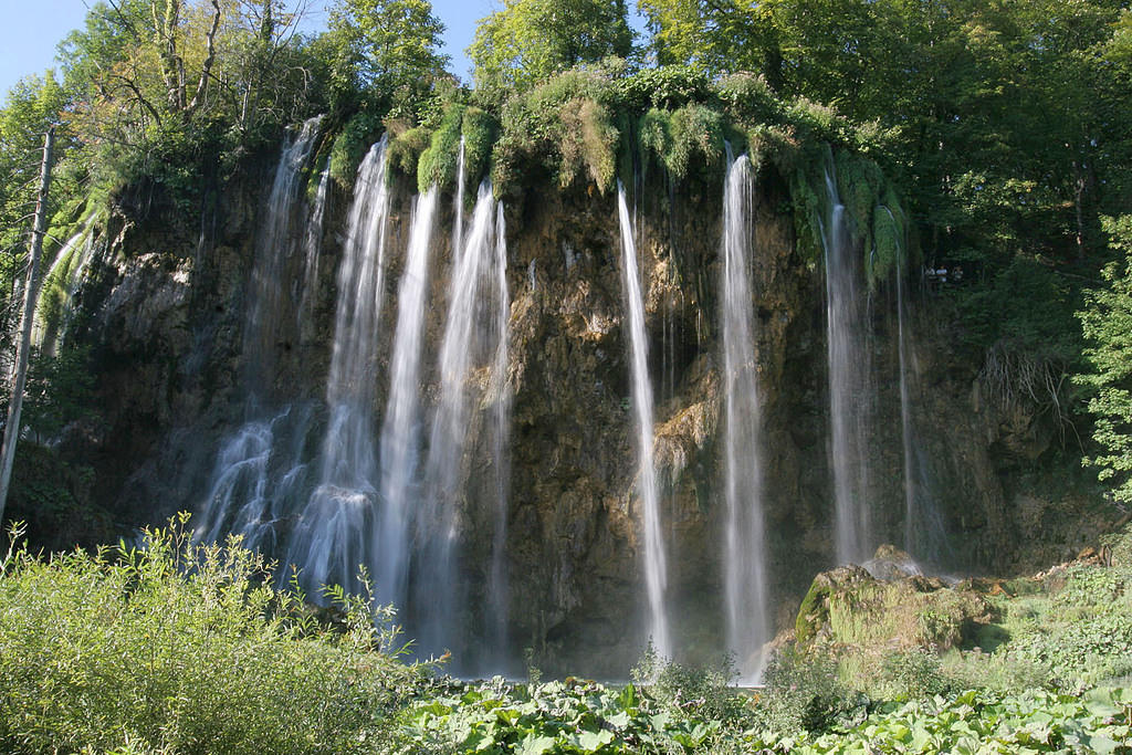
<svg viewBox="0 0 1132 755">
<path fill-rule="evenodd" d="M 488 642 L 496 663 L 507 650 L 508 586 L 507 578 L 507 511 L 511 464 L 507 438 L 511 435 L 511 388 L 507 381 L 507 332 L 511 320 L 511 294 L 507 290 L 507 226 L 503 204 L 496 206 L 496 359 L 492 371 L 495 411 L 492 461 L 495 467 L 495 517 L 491 532 L 491 567 L 488 574 Z"/>
</svg>

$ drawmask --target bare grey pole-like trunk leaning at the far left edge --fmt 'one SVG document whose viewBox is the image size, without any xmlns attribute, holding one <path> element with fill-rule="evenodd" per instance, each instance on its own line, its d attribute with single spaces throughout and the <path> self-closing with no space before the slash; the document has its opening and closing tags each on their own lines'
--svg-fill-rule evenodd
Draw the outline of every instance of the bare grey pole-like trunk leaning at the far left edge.
<svg viewBox="0 0 1132 755">
<path fill-rule="evenodd" d="M 27 266 L 27 285 L 24 288 L 24 320 L 20 324 L 19 343 L 16 346 L 16 379 L 11 387 L 11 401 L 8 403 L 3 446 L 0 447 L 0 522 L 3 522 L 3 508 L 8 501 L 8 486 L 11 482 L 11 464 L 16 458 L 16 443 L 19 440 L 19 414 L 24 407 L 24 384 L 27 381 L 27 359 L 32 348 L 32 320 L 35 319 L 35 302 L 40 294 L 40 256 L 43 252 L 43 237 L 48 230 L 48 189 L 51 188 L 54 147 L 55 129 L 52 127 L 43 137 L 40 195 L 35 200 L 35 224 L 32 228 L 32 259 Z"/>
</svg>

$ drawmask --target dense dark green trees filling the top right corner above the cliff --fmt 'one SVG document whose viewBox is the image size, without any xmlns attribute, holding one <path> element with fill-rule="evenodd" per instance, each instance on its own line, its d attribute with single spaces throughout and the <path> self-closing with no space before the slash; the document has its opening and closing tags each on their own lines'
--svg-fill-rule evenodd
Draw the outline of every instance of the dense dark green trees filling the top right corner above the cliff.
<svg viewBox="0 0 1132 755">
<path fill-rule="evenodd" d="M 1104 195 L 1127 186 L 1126 6 L 641 0 L 661 63 L 749 68 L 783 97 L 878 122 L 938 254 L 995 268 L 1023 247 L 1084 257 L 1097 211 L 1120 212 Z"/>
</svg>

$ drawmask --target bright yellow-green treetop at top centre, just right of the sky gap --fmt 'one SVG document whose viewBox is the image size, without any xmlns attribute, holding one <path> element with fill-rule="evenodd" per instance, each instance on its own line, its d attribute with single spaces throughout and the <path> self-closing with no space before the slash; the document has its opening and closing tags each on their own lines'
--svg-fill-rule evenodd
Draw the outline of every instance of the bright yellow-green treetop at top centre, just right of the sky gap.
<svg viewBox="0 0 1132 755">
<path fill-rule="evenodd" d="M 505 0 L 480 20 L 468 54 L 477 87 L 499 91 L 632 51 L 625 0 Z"/>
</svg>

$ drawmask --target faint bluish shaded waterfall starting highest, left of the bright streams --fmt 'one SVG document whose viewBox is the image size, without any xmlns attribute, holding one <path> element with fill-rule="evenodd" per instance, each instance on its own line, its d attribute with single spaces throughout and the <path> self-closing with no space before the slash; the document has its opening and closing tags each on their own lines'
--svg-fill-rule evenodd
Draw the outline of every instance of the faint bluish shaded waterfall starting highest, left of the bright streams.
<svg viewBox="0 0 1132 755">
<path fill-rule="evenodd" d="M 283 147 L 275 168 L 265 222 L 256 235 L 256 256 L 248 290 L 248 316 L 243 328 L 243 364 L 246 384 L 255 393 L 274 381 L 275 348 L 280 341 L 283 318 L 290 318 L 285 300 L 286 259 L 295 244 L 291 220 L 302 186 L 302 169 L 315 146 L 321 117 L 302 125 L 299 135 Z M 269 391 L 268 391 L 269 393 Z M 254 402 L 249 409 L 254 412 Z"/>
</svg>

